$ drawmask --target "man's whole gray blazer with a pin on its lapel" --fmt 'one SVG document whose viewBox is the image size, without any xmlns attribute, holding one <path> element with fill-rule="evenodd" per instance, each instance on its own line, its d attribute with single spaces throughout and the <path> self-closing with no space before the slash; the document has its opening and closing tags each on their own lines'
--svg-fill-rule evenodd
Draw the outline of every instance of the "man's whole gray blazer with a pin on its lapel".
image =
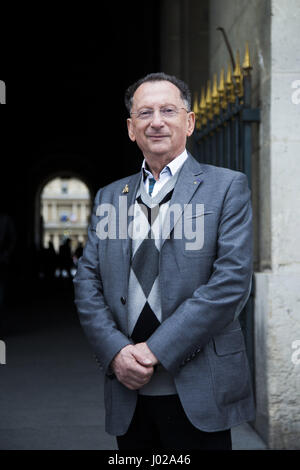
<svg viewBox="0 0 300 470">
<path fill-rule="evenodd" d="M 88 242 L 74 278 L 81 325 L 105 374 L 106 431 L 124 434 L 132 419 L 137 392 L 111 373 L 109 364 L 127 344 L 127 292 L 130 238 L 99 239 L 100 204 L 119 196 L 134 203 L 141 174 L 100 189 L 95 198 Z M 125 196 L 125 197 L 124 197 Z M 173 375 L 183 408 L 194 426 L 220 431 L 254 419 L 251 379 L 238 315 L 252 277 L 252 212 L 243 173 L 185 161 L 170 204 L 181 205 L 164 234 L 160 255 L 162 323 L 147 344 Z M 187 250 L 190 240 L 174 237 L 186 205 L 204 207 L 204 242 Z M 204 204 L 204 206 L 196 206 Z M 103 238 L 103 237 L 102 237 Z"/>
</svg>

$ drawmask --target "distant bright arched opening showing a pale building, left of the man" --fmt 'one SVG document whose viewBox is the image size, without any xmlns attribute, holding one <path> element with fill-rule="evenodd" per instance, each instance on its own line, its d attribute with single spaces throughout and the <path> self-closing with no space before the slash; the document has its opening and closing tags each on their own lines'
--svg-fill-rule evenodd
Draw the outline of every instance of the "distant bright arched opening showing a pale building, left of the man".
<svg viewBox="0 0 300 470">
<path fill-rule="evenodd" d="M 91 191 L 72 172 L 51 175 L 35 199 L 39 277 L 73 277 L 87 240 Z"/>
</svg>

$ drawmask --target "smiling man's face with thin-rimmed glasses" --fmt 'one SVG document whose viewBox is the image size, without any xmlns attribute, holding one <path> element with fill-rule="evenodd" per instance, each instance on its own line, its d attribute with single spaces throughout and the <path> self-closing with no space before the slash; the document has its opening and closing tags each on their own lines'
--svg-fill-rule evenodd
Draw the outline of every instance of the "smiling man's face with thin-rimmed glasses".
<svg viewBox="0 0 300 470">
<path fill-rule="evenodd" d="M 176 112 L 166 116 L 161 112 L 166 109 Z M 127 119 L 129 138 L 136 141 L 145 158 L 161 156 L 171 160 L 177 157 L 194 131 L 194 113 L 186 111 L 179 89 L 168 81 L 139 86 L 133 95 L 131 113 L 131 118 Z M 145 113 L 149 117 L 144 118 Z"/>
</svg>

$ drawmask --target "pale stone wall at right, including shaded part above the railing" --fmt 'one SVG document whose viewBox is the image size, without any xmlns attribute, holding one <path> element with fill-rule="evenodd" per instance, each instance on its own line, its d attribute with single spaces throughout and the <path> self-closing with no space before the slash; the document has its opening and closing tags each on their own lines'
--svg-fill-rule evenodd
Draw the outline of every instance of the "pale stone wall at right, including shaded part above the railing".
<svg viewBox="0 0 300 470">
<path fill-rule="evenodd" d="M 261 108 L 252 157 L 255 427 L 272 449 L 300 449 L 299 24 L 299 0 L 210 1 L 210 74 L 228 62 L 222 26 L 242 56 L 249 41 L 253 105 Z"/>
</svg>

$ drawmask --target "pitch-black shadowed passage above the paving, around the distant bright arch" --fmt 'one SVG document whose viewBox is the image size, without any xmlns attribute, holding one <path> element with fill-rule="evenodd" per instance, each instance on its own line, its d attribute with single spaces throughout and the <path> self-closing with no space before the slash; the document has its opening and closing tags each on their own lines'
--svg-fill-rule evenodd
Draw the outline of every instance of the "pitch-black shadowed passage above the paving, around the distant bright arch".
<svg viewBox="0 0 300 470">
<path fill-rule="evenodd" d="M 19 18 L 19 20 L 18 20 Z M 2 28 L 0 213 L 16 232 L 6 298 L 31 299 L 39 249 L 37 204 L 52 176 L 78 177 L 93 198 L 105 184 L 139 170 L 127 136 L 125 89 L 160 67 L 159 2 L 107 2 L 85 8 L 19 10 Z M 3 337 L 0 332 L 0 338 Z"/>
</svg>

